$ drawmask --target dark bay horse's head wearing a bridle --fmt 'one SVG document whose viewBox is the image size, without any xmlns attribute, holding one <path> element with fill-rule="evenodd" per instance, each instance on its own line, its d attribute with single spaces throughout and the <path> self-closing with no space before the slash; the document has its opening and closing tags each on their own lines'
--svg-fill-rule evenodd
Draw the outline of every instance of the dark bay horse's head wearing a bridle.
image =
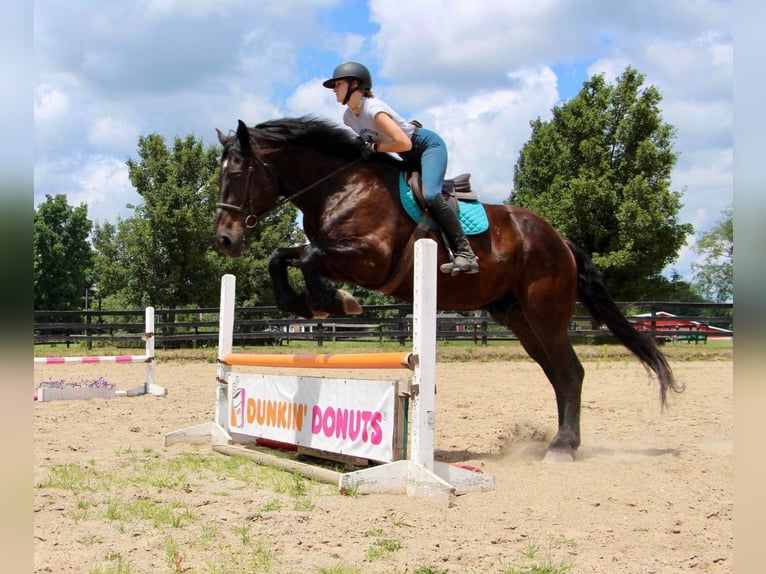
<svg viewBox="0 0 766 574">
<path fill-rule="evenodd" d="M 229 257 L 242 255 L 255 226 L 276 203 L 277 178 L 259 156 L 250 130 L 239 120 L 233 136 L 218 132 L 223 145 L 218 185 L 221 193 L 215 217 L 215 241 Z"/>
</svg>

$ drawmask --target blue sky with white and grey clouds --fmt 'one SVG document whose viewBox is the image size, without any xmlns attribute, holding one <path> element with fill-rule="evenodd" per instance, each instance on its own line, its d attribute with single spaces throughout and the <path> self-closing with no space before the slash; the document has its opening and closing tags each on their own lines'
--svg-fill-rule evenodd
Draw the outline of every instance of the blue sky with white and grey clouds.
<svg viewBox="0 0 766 574">
<path fill-rule="evenodd" d="M 732 28 L 733 0 L 36 0 L 35 206 L 65 194 L 95 223 L 130 217 L 140 136 L 209 146 L 238 119 L 340 123 L 321 84 L 347 60 L 445 139 L 448 176 L 502 203 L 529 122 L 632 66 L 677 130 L 671 189 L 699 234 L 733 202 Z M 691 279 L 694 240 L 666 274 Z"/>
</svg>

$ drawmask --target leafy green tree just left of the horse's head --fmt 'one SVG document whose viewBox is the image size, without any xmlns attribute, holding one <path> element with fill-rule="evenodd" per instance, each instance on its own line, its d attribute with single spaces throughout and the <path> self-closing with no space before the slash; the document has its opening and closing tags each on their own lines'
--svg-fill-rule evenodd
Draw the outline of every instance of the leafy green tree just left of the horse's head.
<svg viewBox="0 0 766 574">
<path fill-rule="evenodd" d="M 125 305 L 215 305 L 219 262 L 212 252 L 218 151 L 187 136 L 168 147 L 152 134 L 127 161 L 143 203 L 135 216 L 94 233 L 100 293 Z"/>
</svg>

